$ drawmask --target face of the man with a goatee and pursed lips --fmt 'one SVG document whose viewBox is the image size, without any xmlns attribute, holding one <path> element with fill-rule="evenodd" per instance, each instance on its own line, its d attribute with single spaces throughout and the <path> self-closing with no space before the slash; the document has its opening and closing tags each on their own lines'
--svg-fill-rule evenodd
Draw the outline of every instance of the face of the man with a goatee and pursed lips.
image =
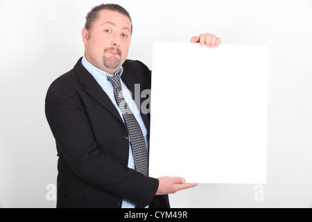
<svg viewBox="0 0 312 222">
<path fill-rule="evenodd" d="M 83 42 L 87 60 L 109 74 L 119 70 L 128 56 L 131 22 L 119 12 L 102 10 L 91 33 L 83 28 Z"/>
</svg>

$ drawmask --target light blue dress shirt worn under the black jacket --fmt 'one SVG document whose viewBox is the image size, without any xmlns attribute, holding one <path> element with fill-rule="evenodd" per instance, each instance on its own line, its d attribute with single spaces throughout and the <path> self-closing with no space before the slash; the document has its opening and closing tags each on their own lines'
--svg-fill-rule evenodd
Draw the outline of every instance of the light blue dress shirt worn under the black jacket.
<svg viewBox="0 0 312 222">
<path fill-rule="evenodd" d="M 110 100 L 114 104 L 116 110 L 118 110 L 118 112 L 119 112 L 119 114 L 121 116 L 121 119 L 123 119 L 123 114 L 121 113 L 121 110 L 119 109 L 119 107 L 117 105 L 116 98 L 115 98 L 115 95 L 114 95 L 114 87 L 112 86 L 112 83 L 110 83 L 110 81 L 107 80 L 107 76 L 111 77 L 112 75 L 107 74 L 106 72 L 102 71 L 101 69 L 98 69 L 98 68 L 94 67 L 94 65 L 92 65 L 85 58 L 85 56 L 83 56 L 83 60 L 81 61 L 81 63 L 83 64 L 85 69 L 87 69 L 87 71 L 89 71 L 89 73 L 92 74 L 92 76 L 96 79 L 98 84 L 101 85 L 102 89 L 107 94 L 107 96 L 110 97 Z M 123 74 L 123 67 L 121 67 L 119 69 L 119 71 L 120 71 L 120 76 L 121 76 Z M 139 112 L 139 110 L 137 108 L 137 105 L 135 104 L 135 101 L 132 99 L 132 95 L 130 94 L 128 87 L 125 85 L 125 83 L 123 83 L 123 80 L 121 80 L 121 87 L 123 89 L 123 97 L 125 98 L 125 101 L 128 103 L 130 110 L 135 115 L 135 119 L 137 119 L 137 122 L 141 126 L 141 130 L 143 132 L 145 142 L 146 142 L 146 144 L 148 144 L 147 143 L 148 142 L 147 141 L 147 130 L 146 130 L 146 127 L 144 125 L 144 121 L 141 118 L 140 112 Z M 125 122 L 124 119 L 123 119 L 123 122 Z M 146 146 L 146 148 L 147 148 L 147 146 Z M 135 160 L 133 159 L 133 154 L 132 154 L 132 148 L 131 148 L 130 141 L 129 141 L 128 167 L 130 169 L 135 169 Z M 132 203 L 129 203 L 126 200 L 123 200 L 123 204 L 121 205 L 121 207 L 122 208 L 135 208 L 135 205 L 133 205 Z"/>
</svg>

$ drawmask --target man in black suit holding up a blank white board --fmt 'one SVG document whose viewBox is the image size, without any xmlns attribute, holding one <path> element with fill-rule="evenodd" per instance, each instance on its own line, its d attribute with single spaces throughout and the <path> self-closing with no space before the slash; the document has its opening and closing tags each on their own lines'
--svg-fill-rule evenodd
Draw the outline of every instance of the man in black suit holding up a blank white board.
<svg viewBox="0 0 312 222">
<path fill-rule="evenodd" d="M 170 207 L 168 194 L 196 186 L 184 178 L 148 177 L 150 114 L 138 111 L 129 91 L 135 84 L 141 92 L 150 89 L 151 77 L 146 65 L 126 60 L 131 35 L 124 8 L 96 6 L 82 31 L 85 56 L 49 87 L 57 207 Z M 214 47 L 220 39 L 202 34 L 191 42 Z"/>
</svg>

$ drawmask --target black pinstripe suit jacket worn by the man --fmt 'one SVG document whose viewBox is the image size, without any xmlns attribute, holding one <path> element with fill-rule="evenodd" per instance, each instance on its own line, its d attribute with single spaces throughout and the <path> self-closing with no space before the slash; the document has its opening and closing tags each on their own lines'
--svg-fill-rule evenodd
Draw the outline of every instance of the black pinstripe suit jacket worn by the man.
<svg viewBox="0 0 312 222">
<path fill-rule="evenodd" d="M 121 78 L 133 96 L 135 84 L 150 89 L 150 70 L 139 61 L 126 60 Z M 127 167 L 127 127 L 81 58 L 51 84 L 45 109 L 58 151 L 57 207 L 121 207 L 123 199 L 169 207 L 167 195 L 155 196 L 157 179 Z M 148 133 L 149 115 L 141 113 Z"/>
</svg>

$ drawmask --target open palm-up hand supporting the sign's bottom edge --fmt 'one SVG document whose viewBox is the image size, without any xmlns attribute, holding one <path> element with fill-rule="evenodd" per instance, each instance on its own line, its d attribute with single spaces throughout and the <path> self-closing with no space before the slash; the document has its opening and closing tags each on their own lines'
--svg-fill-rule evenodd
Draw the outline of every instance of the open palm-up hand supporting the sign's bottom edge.
<svg viewBox="0 0 312 222">
<path fill-rule="evenodd" d="M 176 191 L 196 187 L 197 183 L 187 183 L 184 178 L 171 178 L 164 176 L 158 178 L 159 186 L 156 195 L 175 194 Z"/>
</svg>

